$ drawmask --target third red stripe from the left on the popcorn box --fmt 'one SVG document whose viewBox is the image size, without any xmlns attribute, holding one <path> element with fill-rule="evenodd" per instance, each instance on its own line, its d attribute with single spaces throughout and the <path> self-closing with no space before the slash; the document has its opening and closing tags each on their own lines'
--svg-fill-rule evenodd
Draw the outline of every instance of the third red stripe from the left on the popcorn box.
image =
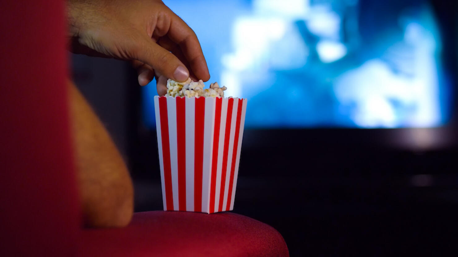
<svg viewBox="0 0 458 257">
<path fill-rule="evenodd" d="M 194 211 L 202 211 L 203 127 L 205 97 L 196 98 L 194 136 Z"/>
</svg>

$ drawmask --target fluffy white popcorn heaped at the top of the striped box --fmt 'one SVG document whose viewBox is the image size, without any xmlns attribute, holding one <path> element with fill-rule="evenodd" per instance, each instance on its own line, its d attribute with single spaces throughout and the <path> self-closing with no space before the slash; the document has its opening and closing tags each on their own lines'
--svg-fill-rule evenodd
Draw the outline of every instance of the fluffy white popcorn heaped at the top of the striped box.
<svg viewBox="0 0 458 257">
<path fill-rule="evenodd" d="M 191 79 L 185 82 L 176 82 L 174 80 L 167 80 L 167 94 L 165 96 L 185 96 L 185 97 L 223 97 L 226 87 L 220 88 L 218 82 L 210 84 L 209 89 L 203 89 L 205 85 L 202 79 L 199 81 L 192 81 Z"/>
</svg>

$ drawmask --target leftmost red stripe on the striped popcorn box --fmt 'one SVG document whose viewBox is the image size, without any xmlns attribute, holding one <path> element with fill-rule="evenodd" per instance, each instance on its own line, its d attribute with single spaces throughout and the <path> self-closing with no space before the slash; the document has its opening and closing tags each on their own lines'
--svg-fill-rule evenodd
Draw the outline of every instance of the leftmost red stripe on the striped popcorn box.
<svg viewBox="0 0 458 257">
<path fill-rule="evenodd" d="M 159 97 L 159 115 L 161 118 L 162 156 L 164 162 L 164 184 L 166 209 L 173 210 L 172 171 L 170 169 L 169 118 L 167 116 L 167 98 Z"/>
</svg>

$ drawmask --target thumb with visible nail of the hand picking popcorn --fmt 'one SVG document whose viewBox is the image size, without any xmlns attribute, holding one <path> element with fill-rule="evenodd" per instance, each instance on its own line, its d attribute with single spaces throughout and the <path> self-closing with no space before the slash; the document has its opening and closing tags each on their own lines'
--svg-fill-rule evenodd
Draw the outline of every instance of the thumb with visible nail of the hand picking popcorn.
<svg viewBox="0 0 458 257">
<path fill-rule="evenodd" d="M 180 59 L 149 37 L 142 40 L 135 53 L 135 59 L 148 64 L 169 79 L 184 82 L 189 78 L 189 71 Z"/>
</svg>

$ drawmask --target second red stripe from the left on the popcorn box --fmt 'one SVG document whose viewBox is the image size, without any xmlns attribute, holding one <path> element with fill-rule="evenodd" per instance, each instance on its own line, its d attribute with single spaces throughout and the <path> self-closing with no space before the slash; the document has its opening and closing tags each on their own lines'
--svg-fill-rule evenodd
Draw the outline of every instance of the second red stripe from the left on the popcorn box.
<svg viewBox="0 0 458 257">
<path fill-rule="evenodd" d="M 185 98 L 176 98 L 176 142 L 178 158 L 178 206 L 186 210 L 186 119 Z"/>
</svg>

